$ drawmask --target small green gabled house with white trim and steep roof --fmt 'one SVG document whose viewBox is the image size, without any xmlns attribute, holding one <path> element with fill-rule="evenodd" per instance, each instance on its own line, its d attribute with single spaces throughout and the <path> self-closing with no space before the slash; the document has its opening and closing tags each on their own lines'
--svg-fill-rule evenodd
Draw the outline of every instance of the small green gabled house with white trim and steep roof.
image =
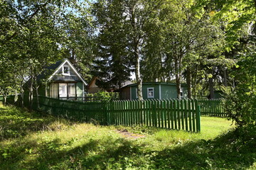
<svg viewBox="0 0 256 170">
<path fill-rule="evenodd" d="M 65 100 L 82 101 L 85 97 L 87 83 L 68 59 L 63 59 L 46 67 L 37 80 L 46 84 L 41 85 L 38 93 L 41 96 Z"/>
</svg>

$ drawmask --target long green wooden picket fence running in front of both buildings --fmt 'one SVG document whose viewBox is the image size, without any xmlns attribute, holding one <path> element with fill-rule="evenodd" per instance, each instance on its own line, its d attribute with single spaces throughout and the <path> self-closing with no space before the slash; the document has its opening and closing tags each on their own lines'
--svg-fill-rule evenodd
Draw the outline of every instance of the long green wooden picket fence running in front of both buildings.
<svg viewBox="0 0 256 170">
<path fill-rule="evenodd" d="M 39 109 L 55 116 L 100 125 L 146 125 L 200 132 L 200 106 L 196 100 L 78 102 L 39 96 Z M 33 109 L 36 110 L 36 97 Z M 24 103 L 25 106 L 27 105 Z"/>
</svg>

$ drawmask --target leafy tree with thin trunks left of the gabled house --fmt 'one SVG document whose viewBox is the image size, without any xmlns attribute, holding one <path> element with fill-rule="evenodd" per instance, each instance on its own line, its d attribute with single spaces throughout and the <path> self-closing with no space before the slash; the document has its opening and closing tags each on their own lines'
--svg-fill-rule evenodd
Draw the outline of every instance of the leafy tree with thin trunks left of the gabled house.
<svg viewBox="0 0 256 170">
<path fill-rule="evenodd" d="M 76 1 L 1 1 L 0 61 L 11 64 L 8 67 L 21 68 L 15 81 L 23 94 L 24 77 L 30 79 L 29 91 L 38 94 L 37 75 L 43 67 L 59 60 L 65 50 L 68 32 L 66 24 L 74 20 L 68 15 L 68 6 L 78 8 Z M 69 10 L 70 10 L 69 8 Z M 78 14 L 78 13 L 77 13 Z M 74 15 L 75 16 L 75 15 Z M 0 72 L 4 72 L 0 68 Z M 5 73 L 5 72 L 4 72 Z M 6 74 L 7 75 L 7 74 Z M 3 78 L 4 79 L 4 78 Z M 17 89 L 17 87 L 15 86 Z M 23 96 L 23 95 L 21 95 Z"/>
</svg>

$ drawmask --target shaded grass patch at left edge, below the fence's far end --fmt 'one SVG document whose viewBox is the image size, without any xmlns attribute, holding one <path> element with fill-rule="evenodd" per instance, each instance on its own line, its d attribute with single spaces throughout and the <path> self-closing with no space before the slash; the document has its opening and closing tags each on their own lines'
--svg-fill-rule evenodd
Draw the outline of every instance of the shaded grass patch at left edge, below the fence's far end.
<svg viewBox="0 0 256 170">
<path fill-rule="evenodd" d="M 23 137 L 31 132 L 40 130 L 55 130 L 63 127 L 51 127 L 56 122 L 62 125 L 71 125 L 70 121 L 54 118 L 53 116 L 32 112 L 23 108 L 9 106 L 0 110 L 0 142 L 12 138 Z M 57 123 L 56 123 L 57 124 Z"/>
</svg>

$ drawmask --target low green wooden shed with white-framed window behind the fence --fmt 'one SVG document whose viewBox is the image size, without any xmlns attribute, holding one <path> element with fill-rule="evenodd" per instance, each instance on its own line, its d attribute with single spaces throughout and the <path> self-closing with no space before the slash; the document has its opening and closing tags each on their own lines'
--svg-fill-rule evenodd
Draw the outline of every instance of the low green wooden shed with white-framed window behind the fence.
<svg viewBox="0 0 256 170">
<path fill-rule="evenodd" d="M 119 90 L 121 100 L 135 100 L 137 96 L 137 84 L 129 84 Z M 186 98 L 188 88 L 186 84 L 181 84 L 181 98 Z M 149 82 L 142 84 L 142 96 L 144 99 L 170 99 L 177 98 L 176 84 L 162 83 L 162 82 Z"/>
</svg>

